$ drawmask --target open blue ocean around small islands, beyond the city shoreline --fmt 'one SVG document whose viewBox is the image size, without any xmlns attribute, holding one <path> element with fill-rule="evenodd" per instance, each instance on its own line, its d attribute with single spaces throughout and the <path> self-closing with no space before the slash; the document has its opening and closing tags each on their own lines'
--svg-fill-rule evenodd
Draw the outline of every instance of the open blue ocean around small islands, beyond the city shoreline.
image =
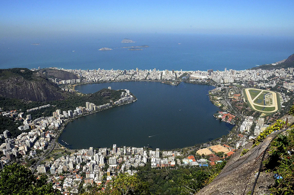
<svg viewBox="0 0 294 195">
<path fill-rule="evenodd" d="M 121 43 L 124 38 L 136 43 Z M 121 48 L 140 45 L 150 47 L 139 51 Z M 293 45 L 294 38 L 201 34 L 2 37 L 0 68 L 244 70 L 286 59 L 294 53 Z M 102 47 L 113 50 L 98 51 Z"/>
</svg>

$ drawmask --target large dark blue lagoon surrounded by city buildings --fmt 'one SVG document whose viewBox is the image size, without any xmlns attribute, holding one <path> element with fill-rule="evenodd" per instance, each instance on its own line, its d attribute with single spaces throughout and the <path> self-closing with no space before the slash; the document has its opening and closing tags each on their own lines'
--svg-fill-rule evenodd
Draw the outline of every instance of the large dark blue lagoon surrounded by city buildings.
<svg viewBox="0 0 294 195">
<path fill-rule="evenodd" d="M 103 88 L 128 89 L 138 100 L 68 123 L 59 138 L 71 149 L 89 147 L 152 146 L 173 149 L 193 146 L 228 134 L 233 125 L 216 120 L 218 108 L 208 91 L 213 86 L 161 82 L 111 82 L 76 86 L 83 93 Z"/>
</svg>

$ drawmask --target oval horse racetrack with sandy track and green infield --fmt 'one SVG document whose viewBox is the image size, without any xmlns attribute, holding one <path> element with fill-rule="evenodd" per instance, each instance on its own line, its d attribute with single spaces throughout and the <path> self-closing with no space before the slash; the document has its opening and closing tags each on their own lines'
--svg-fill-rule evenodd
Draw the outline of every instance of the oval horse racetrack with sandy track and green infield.
<svg viewBox="0 0 294 195">
<path fill-rule="evenodd" d="M 270 90 L 244 88 L 243 94 L 251 109 L 270 114 L 280 110 L 280 96 Z"/>
</svg>

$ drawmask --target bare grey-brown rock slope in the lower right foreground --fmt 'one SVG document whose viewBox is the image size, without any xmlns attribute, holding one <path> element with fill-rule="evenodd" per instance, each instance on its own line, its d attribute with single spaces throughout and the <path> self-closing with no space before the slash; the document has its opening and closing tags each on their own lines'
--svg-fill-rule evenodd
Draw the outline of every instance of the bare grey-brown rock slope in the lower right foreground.
<svg viewBox="0 0 294 195">
<path fill-rule="evenodd" d="M 227 162 L 221 173 L 197 195 L 245 195 L 250 194 L 255 181 L 255 173 L 260 167 L 263 152 L 278 132 L 270 134 L 262 143 L 240 157 L 242 150 L 237 151 Z M 252 142 L 245 146 L 250 149 Z M 266 158 L 265 158 L 266 159 Z M 254 195 L 270 194 L 268 190 L 275 182 L 272 175 L 260 173 Z"/>
</svg>

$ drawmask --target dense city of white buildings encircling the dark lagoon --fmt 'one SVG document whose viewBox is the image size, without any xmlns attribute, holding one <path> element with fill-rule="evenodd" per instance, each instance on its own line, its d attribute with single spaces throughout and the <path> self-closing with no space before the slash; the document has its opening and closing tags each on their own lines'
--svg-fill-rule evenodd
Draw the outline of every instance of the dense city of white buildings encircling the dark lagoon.
<svg viewBox="0 0 294 195">
<path fill-rule="evenodd" d="M 47 175 L 63 194 L 78 193 L 79 186 L 105 185 L 121 173 L 140 174 L 142 168 L 179 169 L 199 167 L 205 169 L 228 160 L 237 150 L 256 140 L 271 124 L 285 115 L 293 105 L 293 68 L 278 70 L 224 70 L 224 71 L 174 71 L 174 70 L 65 70 L 80 79 L 61 80 L 51 78 L 62 91 L 83 95 L 76 85 L 86 83 L 121 81 L 160 81 L 169 85 L 180 82 L 213 85 L 209 91 L 211 102 L 219 107 L 214 114 L 217 120 L 235 125 L 221 138 L 187 148 L 160 150 L 148 146 L 116 146 L 112 148 L 85 148 L 70 150 L 59 135 L 70 121 L 91 113 L 103 111 L 136 101 L 129 90 L 122 90 L 117 100 L 103 105 L 85 102 L 74 110 L 55 110 L 51 116 L 32 117 L 38 110 L 54 108 L 46 104 L 27 110 L 0 110 L 3 117 L 17 122 L 19 134 L 12 136 L 9 130 L 0 135 L 2 151 L 1 168 L 14 162 L 31 169 L 36 175 Z M 33 71 L 38 71 L 33 69 Z M 244 91 L 249 89 L 249 98 Z M 108 87 L 111 90 L 111 87 Z M 251 90 L 251 91 L 250 91 Z M 260 90 L 260 91 L 258 91 Z M 264 92 L 266 90 L 266 92 Z M 264 93 L 263 93 L 264 92 Z M 273 94 L 276 94 L 274 96 Z M 276 99 L 273 99 L 275 98 Z M 256 101 L 255 101 L 256 100 Z M 267 110 L 267 107 L 276 110 Z M 258 108 L 258 109 L 257 109 Z M 286 123 L 292 117 L 283 118 Z M 289 121 L 288 121 L 289 120 Z M 111 139 L 109 140 L 111 145 Z M 103 190 L 104 188 L 102 188 Z"/>
</svg>

